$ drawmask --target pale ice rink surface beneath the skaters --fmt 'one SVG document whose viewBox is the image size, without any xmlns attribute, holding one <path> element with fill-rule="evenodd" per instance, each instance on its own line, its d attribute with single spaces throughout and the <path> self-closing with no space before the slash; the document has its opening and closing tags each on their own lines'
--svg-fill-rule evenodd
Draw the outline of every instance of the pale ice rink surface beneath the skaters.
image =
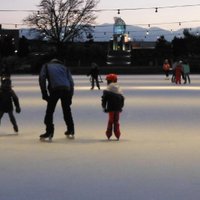
<svg viewBox="0 0 200 200">
<path fill-rule="evenodd" d="M 58 102 L 52 143 L 39 141 L 46 103 L 38 77 L 12 80 L 22 112 L 15 114 L 19 135 L 7 115 L 0 126 L 1 200 L 199 200 L 199 75 L 190 85 L 164 75 L 120 75 L 120 141 L 106 140 L 102 90 L 74 76 L 76 138 L 65 138 Z"/>
</svg>

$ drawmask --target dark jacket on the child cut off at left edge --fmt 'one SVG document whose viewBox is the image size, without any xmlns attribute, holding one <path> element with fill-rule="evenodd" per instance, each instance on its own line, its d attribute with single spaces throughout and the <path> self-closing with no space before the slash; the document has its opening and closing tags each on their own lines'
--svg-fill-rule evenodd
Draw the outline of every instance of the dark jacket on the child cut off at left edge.
<svg viewBox="0 0 200 200">
<path fill-rule="evenodd" d="M 19 99 L 11 88 L 0 88 L 0 111 L 13 111 L 13 102 L 17 110 L 20 110 Z"/>
</svg>

